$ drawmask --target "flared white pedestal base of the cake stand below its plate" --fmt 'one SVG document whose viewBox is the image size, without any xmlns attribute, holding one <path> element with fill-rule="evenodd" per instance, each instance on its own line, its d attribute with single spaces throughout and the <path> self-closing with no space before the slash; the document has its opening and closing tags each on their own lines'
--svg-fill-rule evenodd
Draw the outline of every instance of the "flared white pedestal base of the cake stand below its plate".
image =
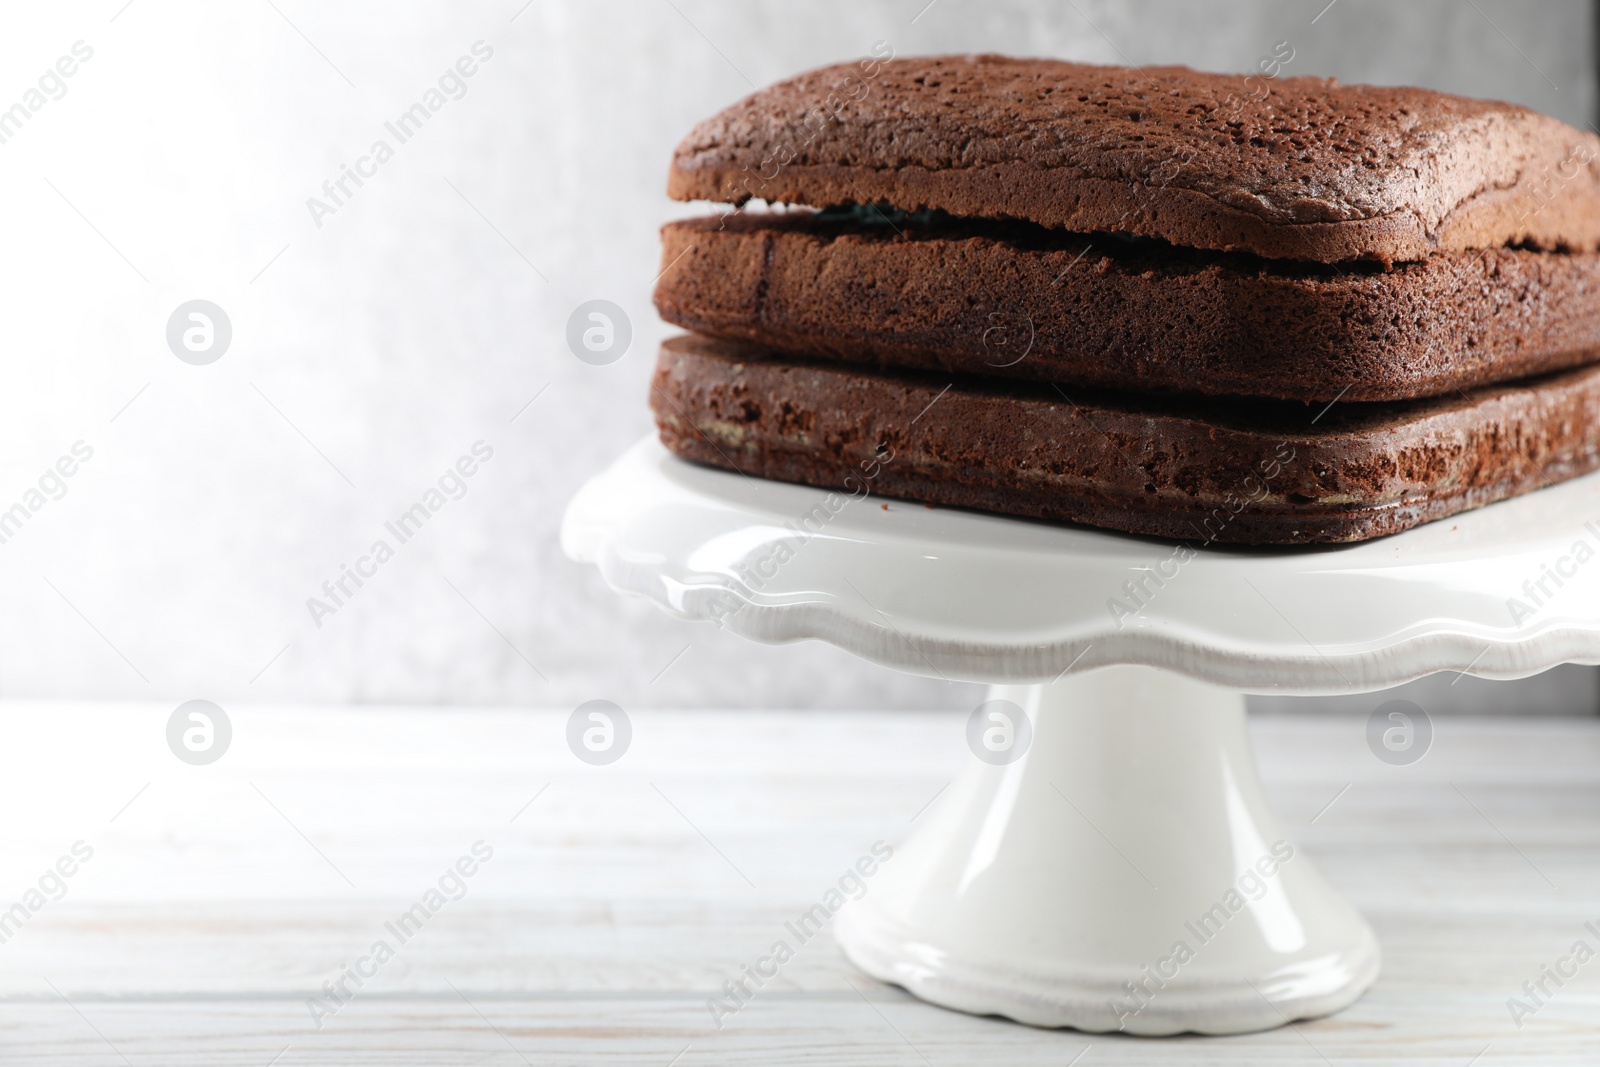
<svg viewBox="0 0 1600 1067">
<path fill-rule="evenodd" d="M 970 731 L 984 758 L 835 920 L 866 973 L 962 1011 L 1144 1035 L 1264 1030 L 1378 977 L 1371 928 L 1267 809 L 1243 696 L 1106 667 L 990 701 Z M 1006 721 L 1018 709 L 1027 723 Z"/>
</svg>

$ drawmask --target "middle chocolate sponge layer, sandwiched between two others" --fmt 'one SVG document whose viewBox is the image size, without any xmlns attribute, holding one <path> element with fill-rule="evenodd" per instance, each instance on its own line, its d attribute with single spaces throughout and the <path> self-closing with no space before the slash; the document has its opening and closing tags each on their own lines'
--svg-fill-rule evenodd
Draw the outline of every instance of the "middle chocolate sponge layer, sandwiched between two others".
<svg viewBox="0 0 1600 1067">
<path fill-rule="evenodd" d="M 662 229 L 661 317 L 856 363 L 1325 403 L 1600 360 L 1600 254 L 1336 269 L 1035 226 L 739 214 Z"/>
</svg>

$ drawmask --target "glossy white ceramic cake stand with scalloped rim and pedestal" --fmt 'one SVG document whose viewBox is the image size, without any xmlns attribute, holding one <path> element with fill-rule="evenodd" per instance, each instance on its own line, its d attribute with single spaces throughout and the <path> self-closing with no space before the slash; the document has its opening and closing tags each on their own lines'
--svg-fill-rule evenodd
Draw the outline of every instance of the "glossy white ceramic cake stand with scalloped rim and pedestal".
<svg viewBox="0 0 1600 1067">
<path fill-rule="evenodd" d="M 1600 662 L 1600 477 L 1357 545 L 1190 552 L 645 440 L 562 544 L 682 617 L 994 686 L 968 766 L 835 933 L 878 979 L 1035 1025 L 1261 1030 L 1376 979 L 1371 928 L 1267 809 L 1243 691 Z"/>
</svg>

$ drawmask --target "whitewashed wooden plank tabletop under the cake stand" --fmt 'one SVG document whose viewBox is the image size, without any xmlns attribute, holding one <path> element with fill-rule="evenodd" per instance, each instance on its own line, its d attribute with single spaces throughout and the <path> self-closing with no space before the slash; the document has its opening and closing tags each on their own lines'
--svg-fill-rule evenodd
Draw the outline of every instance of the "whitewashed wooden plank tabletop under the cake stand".
<svg viewBox="0 0 1600 1067">
<path fill-rule="evenodd" d="M 1138 1040 L 926 1006 L 826 934 L 714 1025 L 707 998 L 971 758 L 962 715 L 637 712 L 594 768 L 565 710 L 229 710 L 195 768 L 168 705 L 0 704 L 0 910 L 93 848 L 0 944 L 0 1064 L 1600 1062 L 1600 958 L 1507 1009 L 1600 949 L 1600 720 L 1442 720 L 1400 768 L 1357 717 L 1254 720 L 1384 976 L 1333 1019 Z M 318 1029 L 307 998 L 475 841 L 464 896 Z"/>
</svg>

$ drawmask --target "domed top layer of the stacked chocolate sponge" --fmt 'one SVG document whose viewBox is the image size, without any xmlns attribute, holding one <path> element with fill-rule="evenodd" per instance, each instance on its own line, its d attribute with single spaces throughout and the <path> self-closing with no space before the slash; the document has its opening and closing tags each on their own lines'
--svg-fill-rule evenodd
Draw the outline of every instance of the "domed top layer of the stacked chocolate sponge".
<svg viewBox="0 0 1600 1067">
<path fill-rule="evenodd" d="M 886 203 L 1278 259 L 1600 248 L 1600 138 L 1328 78 L 936 56 L 824 67 L 696 126 L 680 200 Z"/>
</svg>

